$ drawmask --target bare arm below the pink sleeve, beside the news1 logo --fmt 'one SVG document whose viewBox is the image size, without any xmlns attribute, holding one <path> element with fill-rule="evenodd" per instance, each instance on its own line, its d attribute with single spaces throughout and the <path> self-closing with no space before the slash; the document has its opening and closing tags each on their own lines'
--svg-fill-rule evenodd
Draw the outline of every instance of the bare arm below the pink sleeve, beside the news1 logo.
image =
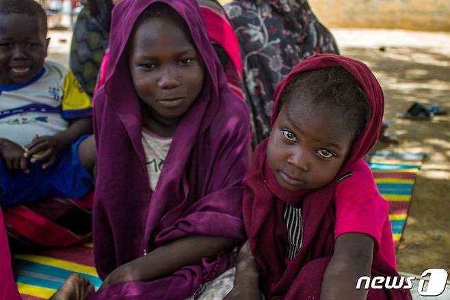
<svg viewBox="0 0 450 300">
<path fill-rule="evenodd" d="M 356 290 L 361 276 L 370 276 L 373 238 L 367 234 L 341 234 L 334 245 L 334 254 L 323 275 L 321 300 L 361 299 L 367 290 Z"/>
</svg>

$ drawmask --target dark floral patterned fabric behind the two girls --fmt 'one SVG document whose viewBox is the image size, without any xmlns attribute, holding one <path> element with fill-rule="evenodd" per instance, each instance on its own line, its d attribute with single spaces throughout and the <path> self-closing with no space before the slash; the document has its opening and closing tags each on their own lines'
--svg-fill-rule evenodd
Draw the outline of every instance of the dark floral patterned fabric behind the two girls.
<svg viewBox="0 0 450 300">
<path fill-rule="evenodd" d="M 274 91 L 293 66 L 316 53 L 339 53 L 332 34 L 304 0 L 235 0 L 225 5 L 235 28 L 252 145 L 270 133 Z"/>
</svg>

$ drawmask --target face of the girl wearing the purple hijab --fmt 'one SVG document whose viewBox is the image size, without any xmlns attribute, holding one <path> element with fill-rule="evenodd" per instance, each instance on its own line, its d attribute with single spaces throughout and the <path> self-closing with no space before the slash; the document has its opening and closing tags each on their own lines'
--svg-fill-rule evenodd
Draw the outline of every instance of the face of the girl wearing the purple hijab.
<svg viewBox="0 0 450 300">
<path fill-rule="evenodd" d="M 129 68 L 150 118 L 163 124 L 179 121 L 202 90 L 202 59 L 183 28 L 170 18 L 148 18 L 137 27 Z"/>
</svg>

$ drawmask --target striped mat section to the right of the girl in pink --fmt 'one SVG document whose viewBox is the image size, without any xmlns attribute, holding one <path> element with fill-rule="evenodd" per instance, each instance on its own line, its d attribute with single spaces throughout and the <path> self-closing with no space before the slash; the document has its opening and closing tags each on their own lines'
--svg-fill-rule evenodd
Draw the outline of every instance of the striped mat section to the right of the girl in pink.
<svg viewBox="0 0 450 300">
<path fill-rule="evenodd" d="M 414 188 L 416 174 L 420 170 L 423 154 L 399 154 L 375 152 L 370 156 L 369 166 L 384 199 L 389 201 L 389 219 L 392 223 L 395 249 L 397 249 Z"/>
</svg>

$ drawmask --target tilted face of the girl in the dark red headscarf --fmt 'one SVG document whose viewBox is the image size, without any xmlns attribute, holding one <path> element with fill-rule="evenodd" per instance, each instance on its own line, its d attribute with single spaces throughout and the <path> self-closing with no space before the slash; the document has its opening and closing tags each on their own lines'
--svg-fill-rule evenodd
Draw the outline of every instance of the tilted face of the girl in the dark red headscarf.
<svg viewBox="0 0 450 300">
<path fill-rule="evenodd" d="M 282 105 L 267 145 L 278 183 L 293 191 L 326 186 L 352 147 L 352 130 L 342 110 L 305 100 Z"/>
</svg>

